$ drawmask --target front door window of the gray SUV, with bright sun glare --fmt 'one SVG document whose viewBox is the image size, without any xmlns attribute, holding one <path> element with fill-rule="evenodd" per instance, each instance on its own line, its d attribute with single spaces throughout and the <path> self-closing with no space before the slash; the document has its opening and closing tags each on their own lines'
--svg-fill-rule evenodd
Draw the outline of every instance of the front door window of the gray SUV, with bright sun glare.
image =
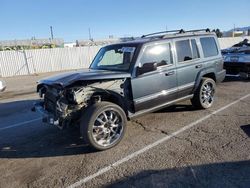
<svg viewBox="0 0 250 188">
<path fill-rule="evenodd" d="M 158 66 L 173 64 L 170 44 L 158 44 L 145 48 L 140 59 L 141 65 L 146 63 L 157 63 Z"/>
</svg>

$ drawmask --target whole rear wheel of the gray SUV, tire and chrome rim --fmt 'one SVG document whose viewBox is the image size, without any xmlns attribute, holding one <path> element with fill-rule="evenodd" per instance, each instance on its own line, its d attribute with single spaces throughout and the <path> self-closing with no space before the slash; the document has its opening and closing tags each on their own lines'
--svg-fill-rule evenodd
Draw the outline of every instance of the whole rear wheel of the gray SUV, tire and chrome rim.
<svg viewBox="0 0 250 188">
<path fill-rule="evenodd" d="M 213 105 L 216 83 L 211 78 L 202 78 L 201 83 L 191 99 L 197 109 L 207 109 Z"/>
</svg>

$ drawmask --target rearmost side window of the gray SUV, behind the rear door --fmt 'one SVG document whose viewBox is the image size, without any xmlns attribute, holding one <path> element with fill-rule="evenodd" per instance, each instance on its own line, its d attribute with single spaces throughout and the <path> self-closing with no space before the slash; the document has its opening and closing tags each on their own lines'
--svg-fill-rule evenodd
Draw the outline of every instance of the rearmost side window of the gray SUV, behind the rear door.
<svg viewBox="0 0 250 188">
<path fill-rule="evenodd" d="M 214 37 L 204 37 L 200 39 L 204 57 L 212 57 L 218 55 L 218 48 Z"/>
</svg>

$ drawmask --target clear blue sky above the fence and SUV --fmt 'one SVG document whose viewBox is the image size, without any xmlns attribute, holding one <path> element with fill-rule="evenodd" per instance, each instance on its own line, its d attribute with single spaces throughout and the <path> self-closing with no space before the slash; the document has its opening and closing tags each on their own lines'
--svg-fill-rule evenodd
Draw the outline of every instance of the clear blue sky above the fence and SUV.
<svg viewBox="0 0 250 188">
<path fill-rule="evenodd" d="M 66 42 L 173 29 L 250 26 L 249 0 L 0 0 L 0 40 Z"/>
</svg>

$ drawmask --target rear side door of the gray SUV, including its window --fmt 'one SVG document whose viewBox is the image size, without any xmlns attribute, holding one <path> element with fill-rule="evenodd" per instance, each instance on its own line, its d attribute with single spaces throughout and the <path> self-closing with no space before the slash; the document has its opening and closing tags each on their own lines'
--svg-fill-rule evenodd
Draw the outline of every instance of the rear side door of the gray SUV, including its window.
<svg viewBox="0 0 250 188">
<path fill-rule="evenodd" d="M 181 98 L 192 94 L 197 74 L 203 68 L 203 64 L 195 38 L 176 39 L 174 44 L 178 97 Z"/>
</svg>

